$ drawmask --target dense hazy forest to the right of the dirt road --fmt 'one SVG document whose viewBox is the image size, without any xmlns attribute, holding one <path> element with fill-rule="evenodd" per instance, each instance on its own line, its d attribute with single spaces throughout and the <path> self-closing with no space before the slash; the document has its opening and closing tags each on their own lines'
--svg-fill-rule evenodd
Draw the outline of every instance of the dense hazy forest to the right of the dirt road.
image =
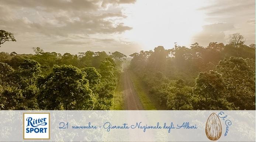
<svg viewBox="0 0 256 142">
<path fill-rule="evenodd" d="M 168 110 L 255 110 L 255 44 L 158 46 L 130 55 L 130 69 Z"/>
</svg>

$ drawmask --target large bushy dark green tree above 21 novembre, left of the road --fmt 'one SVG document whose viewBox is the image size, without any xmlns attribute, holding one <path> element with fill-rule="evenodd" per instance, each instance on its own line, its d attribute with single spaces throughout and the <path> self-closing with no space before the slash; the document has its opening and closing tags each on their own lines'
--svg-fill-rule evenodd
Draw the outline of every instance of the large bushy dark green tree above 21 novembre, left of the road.
<svg viewBox="0 0 256 142">
<path fill-rule="evenodd" d="M 74 66 L 53 66 L 52 72 L 38 80 L 41 108 L 46 110 L 92 110 L 95 98 L 86 73 Z"/>
</svg>

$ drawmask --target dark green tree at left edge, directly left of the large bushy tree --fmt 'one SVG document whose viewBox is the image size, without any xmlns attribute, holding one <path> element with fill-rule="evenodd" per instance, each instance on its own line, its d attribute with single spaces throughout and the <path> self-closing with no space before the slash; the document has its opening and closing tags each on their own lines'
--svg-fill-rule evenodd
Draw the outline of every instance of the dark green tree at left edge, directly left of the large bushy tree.
<svg viewBox="0 0 256 142">
<path fill-rule="evenodd" d="M 6 66 L 7 67 L 7 66 Z M 10 67 L 8 67 L 11 70 Z M 37 110 L 37 76 L 41 72 L 40 64 L 25 59 L 14 72 L 6 75 L 6 84 L 0 95 L 0 104 L 4 110 Z"/>
</svg>

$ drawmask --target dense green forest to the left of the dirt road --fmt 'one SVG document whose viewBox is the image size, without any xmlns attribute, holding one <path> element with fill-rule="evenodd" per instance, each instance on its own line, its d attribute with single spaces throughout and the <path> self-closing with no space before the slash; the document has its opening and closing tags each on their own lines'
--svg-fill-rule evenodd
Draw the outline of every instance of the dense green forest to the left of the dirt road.
<svg viewBox="0 0 256 142">
<path fill-rule="evenodd" d="M 0 53 L 0 110 L 109 110 L 120 52 Z"/>
</svg>

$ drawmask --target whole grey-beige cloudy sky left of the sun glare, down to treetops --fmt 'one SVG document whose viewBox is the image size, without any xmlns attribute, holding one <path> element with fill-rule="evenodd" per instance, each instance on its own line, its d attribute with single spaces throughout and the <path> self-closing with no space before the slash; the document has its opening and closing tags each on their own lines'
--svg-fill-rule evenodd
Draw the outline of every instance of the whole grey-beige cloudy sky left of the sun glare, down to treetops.
<svg viewBox="0 0 256 142">
<path fill-rule="evenodd" d="M 74 54 L 81 50 L 128 52 L 132 45 L 118 39 L 132 29 L 123 22 L 127 18 L 123 6 L 133 3 L 135 0 L 0 0 L 0 29 L 14 33 L 17 39 L 16 45 L 7 43 L 1 50 L 31 53 L 32 47 L 41 47 Z"/>
</svg>

